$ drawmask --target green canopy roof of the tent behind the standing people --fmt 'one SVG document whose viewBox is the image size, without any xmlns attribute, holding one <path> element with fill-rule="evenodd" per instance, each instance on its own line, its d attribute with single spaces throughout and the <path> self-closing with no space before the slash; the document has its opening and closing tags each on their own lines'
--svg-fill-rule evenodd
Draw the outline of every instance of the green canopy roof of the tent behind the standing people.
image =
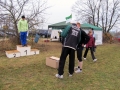
<svg viewBox="0 0 120 90">
<path fill-rule="evenodd" d="M 64 29 L 67 25 L 69 25 L 70 23 L 66 23 L 66 21 L 63 22 L 59 22 L 59 23 L 55 23 L 52 25 L 48 25 L 48 28 L 53 28 L 53 29 Z M 102 30 L 102 28 L 94 26 L 92 24 L 89 23 L 84 23 L 81 24 L 81 28 L 82 29 L 90 29 L 93 28 L 94 30 Z"/>
</svg>

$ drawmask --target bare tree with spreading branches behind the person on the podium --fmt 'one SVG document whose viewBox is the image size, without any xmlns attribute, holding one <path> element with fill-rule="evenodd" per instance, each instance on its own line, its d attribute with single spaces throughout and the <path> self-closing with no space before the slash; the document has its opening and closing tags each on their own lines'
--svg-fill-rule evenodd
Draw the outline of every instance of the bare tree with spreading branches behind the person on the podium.
<svg viewBox="0 0 120 90">
<path fill-rule="evenodd" d="M 26 16 L 29 29 L 32 29 L 41 24 L 41 20 L 46 14 L 45 11 L 49 7 L 45 0 L 0 0 L 0 8 L 2 14 L 10 16 L 10 22 L 13 23 L 13 29 L 19 39 L 17 23 L 21 16 Z"/>
</svg>

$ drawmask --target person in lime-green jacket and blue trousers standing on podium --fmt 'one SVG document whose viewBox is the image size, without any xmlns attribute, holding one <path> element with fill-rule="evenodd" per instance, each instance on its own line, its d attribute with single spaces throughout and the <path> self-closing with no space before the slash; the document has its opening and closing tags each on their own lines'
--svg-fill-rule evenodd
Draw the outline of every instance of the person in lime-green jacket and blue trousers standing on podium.
<svg viewBox="0 0 120 90">
<path fill-rule="evenodd" d="M 20 33 L 20 41 L 21 45 L 27 46 L 27 31 L 28 31 L 28 23 L 23 15 L 21 19 L 18 21 L 18 32 Z"/>
</svg>

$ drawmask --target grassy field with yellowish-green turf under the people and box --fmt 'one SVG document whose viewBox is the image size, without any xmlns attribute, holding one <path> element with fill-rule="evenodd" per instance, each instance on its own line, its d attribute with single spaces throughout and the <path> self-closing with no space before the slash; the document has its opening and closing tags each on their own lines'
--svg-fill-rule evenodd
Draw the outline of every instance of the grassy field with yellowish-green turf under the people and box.
<svg viewBox="0 0 120 90">
<path fill-rule="evenodd" d="M 39 46 L 38 46 L 39 47 Z M 47 42 L 39 55 L 9 59 L 0 57 L 0 90 L 119 90 L 120 44 L 103 44 L 84 60 L 83 72 L 68 77 L 68 58 L 63 79 L 57 79 L 56 69 L 45 65 L 45 58 L 59 57 L 61 44 Z M 77 58 L 76 58 L 77 65 Z"/>
</svg>

